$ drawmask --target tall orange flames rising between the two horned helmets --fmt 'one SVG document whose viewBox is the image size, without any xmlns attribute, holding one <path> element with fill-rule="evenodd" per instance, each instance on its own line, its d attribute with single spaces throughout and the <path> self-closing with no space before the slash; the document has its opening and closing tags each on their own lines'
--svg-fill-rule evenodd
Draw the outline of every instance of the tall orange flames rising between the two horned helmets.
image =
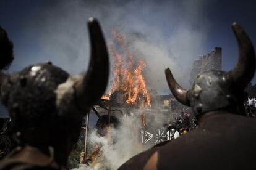
<svg viewBox="0 0 256 170">
<path fill-rule="evenodd" d="M 109 51 L 114 59 L 113 79 L 108 95 L 103 95 L 101 99 L 109 99 L 114 91 L 123 91 L 126 103 L 138 104 L 146 103 L 150 105 L 151 99 L 146 86 L 143 69 L 146 67 L 145 61 L 134 60 L 134 55 L 126 46 L 126 38 L 117 30 L 112 30 L 114 39 L 117 41 L 121 52 L 117 52 L 115 46 L 111 46 Z"/>
</svg>

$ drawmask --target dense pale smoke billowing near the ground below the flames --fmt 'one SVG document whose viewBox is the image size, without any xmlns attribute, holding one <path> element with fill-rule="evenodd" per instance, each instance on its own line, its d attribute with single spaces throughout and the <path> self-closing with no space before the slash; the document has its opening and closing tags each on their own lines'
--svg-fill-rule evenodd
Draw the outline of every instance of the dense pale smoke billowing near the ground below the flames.
<svg viewBox="0 0 256 170">
<path fill-rule="evenodd" d="M 136 116 L 122 116 L 119 121 L 119 128 L 110 128 L 108 137 L 101 137 L 96 131 L 88 136 L 88 143 L 92 147 L 97 144 L 102 145 L 100 150 L 103 155 L 99 158 L 98 164 L 93 166 L 82 165 L 79 169 L 117 169 L 129 158 L 148 148 L 141 144 L 138 136 L 140 134 L 140 119 Z"/>
</svg>

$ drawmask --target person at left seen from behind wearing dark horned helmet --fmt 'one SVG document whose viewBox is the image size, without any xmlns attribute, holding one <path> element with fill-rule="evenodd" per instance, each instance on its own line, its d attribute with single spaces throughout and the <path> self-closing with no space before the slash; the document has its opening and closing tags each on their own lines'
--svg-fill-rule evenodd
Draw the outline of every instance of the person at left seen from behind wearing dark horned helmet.
<svg viewBox="0 0 256 170">
<path fill-rule="evenodd" d="M 91 59 L 85 75 L 70 76 L 51 62 L 0 75 L 0 97 L 8 108 L 20 147 L 0 169 L 66 169 L 79 139 L 82 118 L 108 83 L 109 61 L 99 23 L 89 18 Z"/>
</svg>

